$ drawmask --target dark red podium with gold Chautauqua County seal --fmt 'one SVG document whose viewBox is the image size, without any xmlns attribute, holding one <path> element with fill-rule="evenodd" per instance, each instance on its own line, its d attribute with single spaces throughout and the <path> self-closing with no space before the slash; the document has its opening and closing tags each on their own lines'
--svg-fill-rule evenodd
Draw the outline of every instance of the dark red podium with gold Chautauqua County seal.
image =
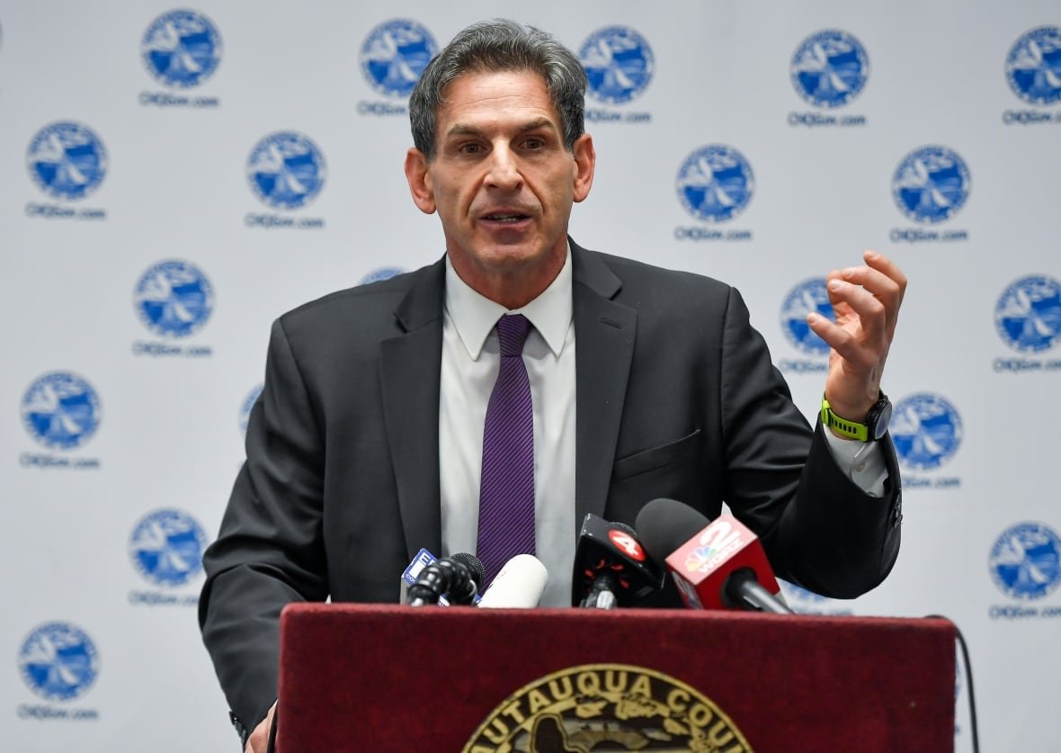
<svg viewBox="0 0 1061 753">
<path fill-rule="evenodd" d="M 946 620 L 299 604 L 280 634 L 280 753 L 954 747 Z"/>
</svg>

